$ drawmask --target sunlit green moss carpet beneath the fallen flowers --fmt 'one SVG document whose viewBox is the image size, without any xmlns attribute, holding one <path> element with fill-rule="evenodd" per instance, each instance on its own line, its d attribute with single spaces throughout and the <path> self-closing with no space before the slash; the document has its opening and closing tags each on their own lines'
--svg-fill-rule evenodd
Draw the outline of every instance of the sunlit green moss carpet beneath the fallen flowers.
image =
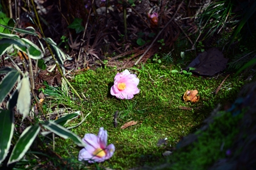
<svg viewBox="0 0 256 170">
<path fill-rule="evenodd" d="M 113 68 L 89 70 L 74 78 L 74 87 L 79 94 L 84 94 L 86 100 L 69 102 L 67 107 L 80 110 L 83 115 L 90 115 L 72 132 L 83 138 L 84 134 L 97 134 L 99 127 L 104 127 L 108 131 L 108 144 L 113 143 L 116 147 L 113 157 L 100 166 L 129 169 L 163 161 L 162 153 L 170 149 L 170 145 L 175 146 L 180 137 L 200 128 L 202 121 L 209 116 L 216 104 L 225 105 L 228 101 L 234 101 L 243 85 L 239 78 L 228 78 L 215 95 L 215 90 L 225 77 L 189 76 L 171 73 L 172 69 L 179 67 L 147 63 L 129 69 L 140 79 L 140 93 L 131 100 L 116 99 L 109 94 L 117 73 Z M 200 101 L 182 101 L 184 92 L 194 89 L 198 90 Z M 192 110 L 180 109 L 180 106 Z M 118 126 L 115 128 L 113 115 L 116 111 Z M 73 120 L 70 124 L 77 124 L 81 119 Z M 131 120 L 138 121 L 138 124 L 120 129 Z M 168 139 L 168 145 L 157 146 L 159 139 L 164 138 Z M 69 139 L 57 140 L 56 146 L 61 146 L 61 150 L 56 148 L 56 152 L 67 159 L 77 159 L 81 149 Z"/>
</svg>

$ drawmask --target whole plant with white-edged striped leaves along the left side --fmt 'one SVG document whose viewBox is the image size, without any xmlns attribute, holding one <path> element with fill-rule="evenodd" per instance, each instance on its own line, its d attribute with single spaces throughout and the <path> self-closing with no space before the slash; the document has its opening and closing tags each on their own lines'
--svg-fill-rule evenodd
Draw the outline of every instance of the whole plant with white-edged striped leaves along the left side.
<svg viewBox="0 0 256 170">
<path fill-rule="evenodd" d="M 1 25 L 4 27 L 4 29 L 13 29 L 12 27 Z M 13 29 L 15 32 L 22 32 L 25 34 L 30 34 L 33 36 L 38 36 L 36 34 L 34 29 L 31 30 L 24 30 L 24 29 Z M 39 37 L 39 36 L 38 36 Z M 36 46 L 34 43 L 29 41 L 26 38 L 19 38 L 19 36 L 14 34 L 4 34 L 0 33 L 0 55 L 3 55 L 5 52 L 7 53 L 8 57 L 12 59 L 12 55 L 10 55 L 10 52 L 12 50 L 17 49 L 21 52 L 26 53 L 29 57 L 29 61 L 31 59 L 40 60 L 40 64 L 44 67 L 44 62 L 42 63 L 42 57 L 44 56 L 44 52 L 40 50 L 38 46 Z M 51 46 L 52 51 L 54 52 L 56 59 L 58 60 L 58 63 L 63 65 L 63 60 L 67 59 L 67 55 L 63 53 L 58 46 L 56 46 L 56 43 L 52 41 L 51 38 L 42 38 L 44 41 L 49 43 Z M 38 39 L 39 40 L 39 39 Z M 40 41 L 38 41 L 40 43 Z M 42 43 L 40 43 L 42 45 Z M 44 48 L 42 48 L 44 50 Z M 31 63 L 31 62 L 29 62 Z M 17 110 L 20 114 L 23 115 L 22 120 L 24 118 L 28 117 L 31 106 L 31 94 L 30 94 L 30 87 L 31 83 L 29 83 L 29 73 L 22 73 L 20 71 L 19 67 L 13 62 L 15 65 L 15 68 L 12 67 L 2 67 L 0 69 L 0 74 L 6 74 L 4 76 L 3 80 L 0 82 L 0 103 L 6 99 L 6 96 L 11 92 L 11 90 L 14 88 L 15 84 L 17 83 L 17 89 L 12 92 L 10 99 L 8 100 L 6 104 L 6 110 L 1 109 L 0 115 L 0 163 L 3 162 L 4 159 L 6 159 L 7 154 L 10 150 L 11 141 L 13 137 L 13 131 L 14 131 L 14 112 L 13 108 L 17 106 Z M 32 73 L 30 66 L 30 73 Z M 33 78 L 33 74 L 30 75 L 31 79 Z M 33 82 L 33 81 L 31 81 Z M 33 85 L 33 84 L 32 84 Z M 33 94 L 33 89 L 31 90 Z M 35 94 L 33 94 L 34 99 L 36 100 Z M 38 108 L 40 108 L 40 104 L 38 104 Z M 42 110 L 40 110 L 42 111 Z M 42 113 L 42 112 L 41 112 Z M 15 144 L 12 153 L 10 155 L 10 158 L 8 159 L 8 162 L 5 166 L 8 166 L 14 162 L 19 161 L 25 153 L 28 151 L 29 147 L 35 140 L 36 136 L 40 132 L 40 129 L 44 127 L 45 129 L 48 129 L 51 132 L 54 132 L 55 134 L 58 134 L 62 138 L 71 138 L 77 145 L 84 146 L 84 143 L 81 141 L 81 139 L 76 136 L 76 134 L 68 131 L 64 127 L 61 126 L 62 122 L 65 120 L 61 120 L 60 122 L 52 122 L 51 120 L 47 120 L 44 122 L 38 122 L 38 119 L 35 119 L 35 117 L 30 115 L 30 118 L 33 119 L 33 122 L 31 125 L 26 127 L 24 132 L 20 135 L 17 143 Z M 42 116 L 44 117 L 44 114 L 42 113 Z"/>
</svg>

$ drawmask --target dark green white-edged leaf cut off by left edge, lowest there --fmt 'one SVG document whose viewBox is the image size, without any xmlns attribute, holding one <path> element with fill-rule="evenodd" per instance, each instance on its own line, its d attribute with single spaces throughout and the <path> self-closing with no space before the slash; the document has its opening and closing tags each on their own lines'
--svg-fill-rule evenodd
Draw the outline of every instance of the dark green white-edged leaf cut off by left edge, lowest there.
<svg viewBox="0 0 256 170">
<path fill-rule="evenodd" d="M 13 112 L 0 110 L 0 164 L 6 158 L 14 131 Z"/>
</svg>

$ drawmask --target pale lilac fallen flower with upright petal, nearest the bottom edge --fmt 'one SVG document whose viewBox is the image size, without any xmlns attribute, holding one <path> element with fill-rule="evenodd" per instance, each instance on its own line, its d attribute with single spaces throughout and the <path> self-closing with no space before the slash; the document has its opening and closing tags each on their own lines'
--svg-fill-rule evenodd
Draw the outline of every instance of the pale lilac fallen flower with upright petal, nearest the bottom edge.
<svg viewBox="0 0 256 170">
<path fill-rule="evenodd" d="M 80 150 L 78 160 L 88 160 L 89 163 L 104 162 L 113 156 L 115 146 L 110 144 L 107 146 L 108 132 L 100 127 L 99 134 L 85 134 L 83 142 L 86 143 L 85 148 Z"/>
</svg>

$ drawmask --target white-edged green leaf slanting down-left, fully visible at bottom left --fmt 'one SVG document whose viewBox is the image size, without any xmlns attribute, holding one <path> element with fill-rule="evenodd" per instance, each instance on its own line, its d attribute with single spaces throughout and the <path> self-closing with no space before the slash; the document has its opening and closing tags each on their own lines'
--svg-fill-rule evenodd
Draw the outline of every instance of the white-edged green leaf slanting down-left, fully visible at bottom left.
<svg viewBox="0 0 256 170">
<path fill-rule="evenodd" d="M 12 164 L 13 162 L 17 162 L 20 159 L 22 159 L 22 157 L 28 151 L 29 147 L 32 145 L 39 131 L 40 126 L 33 125 L 27 127 L 25 131 L 22 132 L 19 140 L 13 148 L 13 151 L 7 164 Z"/>
</svg>

